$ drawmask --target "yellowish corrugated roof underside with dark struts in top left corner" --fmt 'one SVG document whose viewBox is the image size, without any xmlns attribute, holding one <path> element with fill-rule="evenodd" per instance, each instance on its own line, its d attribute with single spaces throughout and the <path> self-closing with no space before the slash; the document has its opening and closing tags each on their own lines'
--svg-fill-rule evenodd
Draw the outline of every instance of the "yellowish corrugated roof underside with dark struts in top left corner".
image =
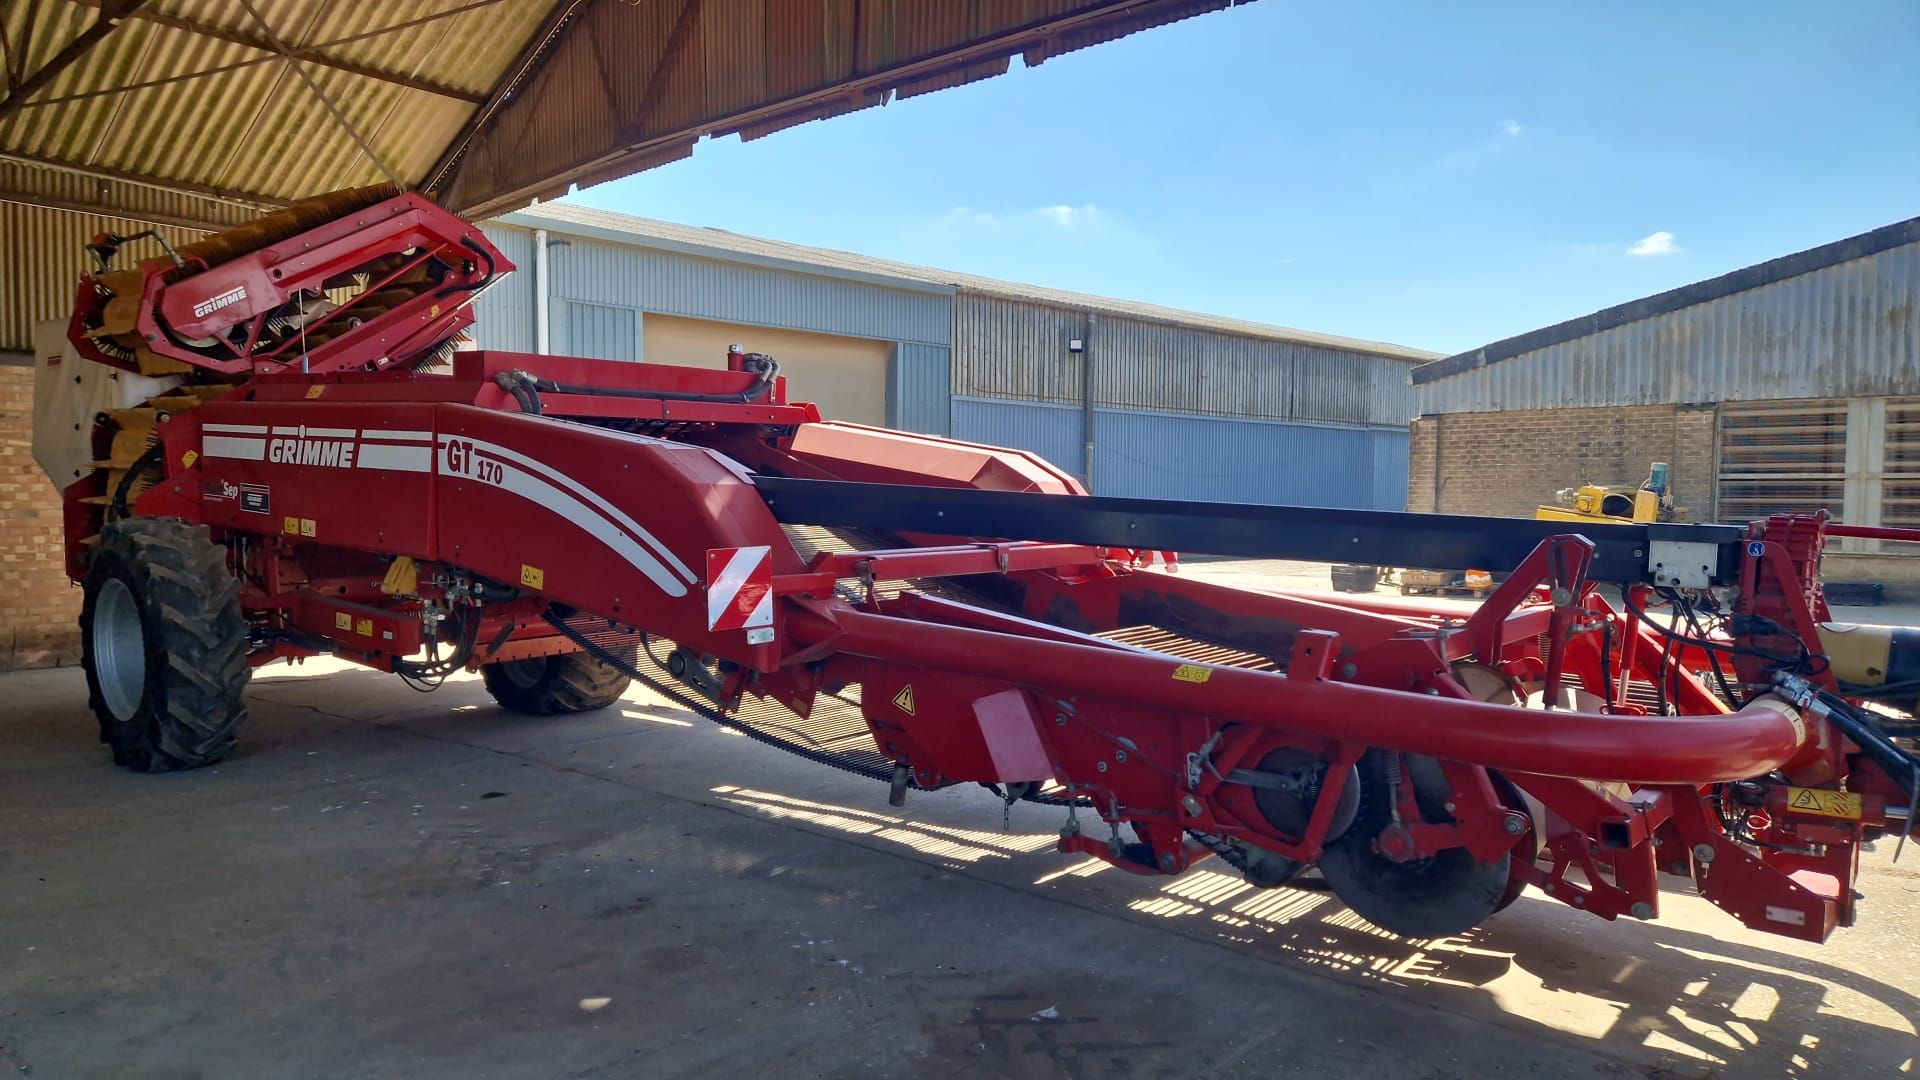
<svg viewBox="0 0 1920 1080">
<path fill-rule="evenodd" d="M 100 17 L 98 8 L 8 4 L 6 37 L 19 48 L 10 61 L 36 71 Z M 486 102 L 553 0 L 252 8 L 257 21 L 234 0 L 154 0 L 132 12 L 0 119 L 0 154 L 257 204 L 388 173 L 413 183 Z"/>
</svg>

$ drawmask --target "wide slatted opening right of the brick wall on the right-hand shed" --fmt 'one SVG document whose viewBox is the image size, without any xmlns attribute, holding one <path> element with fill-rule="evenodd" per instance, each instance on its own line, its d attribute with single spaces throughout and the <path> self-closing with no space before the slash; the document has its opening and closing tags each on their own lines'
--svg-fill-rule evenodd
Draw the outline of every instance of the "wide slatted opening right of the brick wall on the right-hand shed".
<svg viewBox="0 0 1920 1080">
<path fill-rule="evenodd" d="M 1722 521 L 1743 523 L 1772 513 L 1816 509 L 1830 509 L 1839 517 L 1845 482 L 1845 402 L 1720 405 Z"/>
</svg>

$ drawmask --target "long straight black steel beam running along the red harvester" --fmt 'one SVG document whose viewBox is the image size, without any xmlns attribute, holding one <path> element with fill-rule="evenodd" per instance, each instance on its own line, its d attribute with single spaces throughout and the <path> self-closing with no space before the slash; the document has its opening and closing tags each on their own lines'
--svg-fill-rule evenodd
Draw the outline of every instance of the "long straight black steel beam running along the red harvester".
<svg viewBox="0 0 1920 1080">
<path fill-rule="evenodd" d="M 1440 571 L 1511 571 L 1542 540 L 1578 532 L 1594 542 L 1590 578 L 1605 582 L 1651 580 L 1647 546 L 1653 536 L 1716 546 L 1716 577 L 1724 580 L 1738 567 L 1745 536 L 1745 528 L 1738 525 L 1576 525 L 1524 517 L 1043 496 L 787 477 L 755 477 L 755 486 L 774 517 L 787 525 Z"/>
</svg>

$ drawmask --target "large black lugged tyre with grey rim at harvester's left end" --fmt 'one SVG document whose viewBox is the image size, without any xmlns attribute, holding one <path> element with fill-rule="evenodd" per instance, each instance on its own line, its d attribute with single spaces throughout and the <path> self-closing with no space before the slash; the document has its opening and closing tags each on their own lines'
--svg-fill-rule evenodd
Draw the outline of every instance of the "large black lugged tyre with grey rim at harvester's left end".
<svg viewBox="0 0 1920 1080">
<path fill-rule="evenodd" d="M 207 528 L 165 517 L 100 532 L 81 605 L 81 663 L 100 742 L 136 773 L 227 757 L 246 721 L 240 578 Z"/>
</svg>

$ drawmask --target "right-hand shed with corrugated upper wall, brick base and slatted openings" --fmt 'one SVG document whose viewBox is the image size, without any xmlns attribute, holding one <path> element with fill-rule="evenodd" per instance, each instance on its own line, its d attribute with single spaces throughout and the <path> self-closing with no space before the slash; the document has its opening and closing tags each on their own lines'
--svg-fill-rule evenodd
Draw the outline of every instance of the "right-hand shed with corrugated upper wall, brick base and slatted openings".
<svg viewBox="0 0 1920 1080">
<path fill-rule="evenodd" d="M 1697 521 L 1920 527 L 1920 217 L 1423 365 L 1413 392 L 1413 509 L 1530 515 L 1668 461 Z M 1920 582 L 1876 542 L 1839 559 Z"/>
</svg>

